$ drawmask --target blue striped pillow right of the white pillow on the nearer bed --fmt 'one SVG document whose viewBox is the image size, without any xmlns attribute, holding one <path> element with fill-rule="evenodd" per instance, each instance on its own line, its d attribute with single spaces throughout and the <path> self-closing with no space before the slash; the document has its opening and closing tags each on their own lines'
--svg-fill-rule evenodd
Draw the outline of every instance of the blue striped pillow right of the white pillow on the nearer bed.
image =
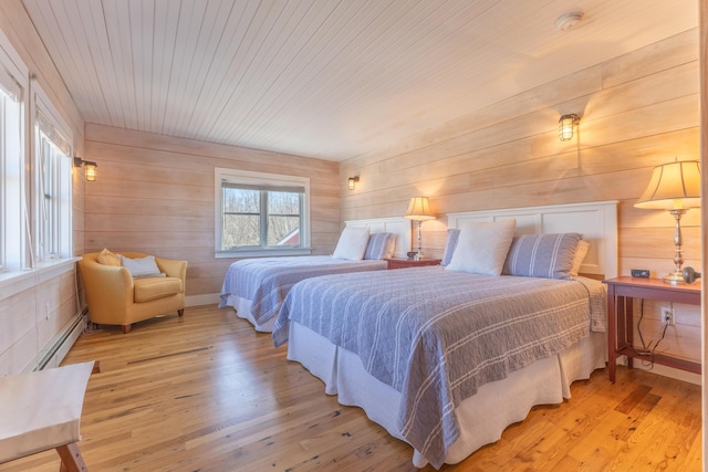
<svg viewBox="0 0 708 472">
<path fill-rule="evenodd" d="M 503 275 L 544 279 L 572 279 L 571 269 L 583 239 L 579 233 L 523 234 L 509 248 Z"/>
</svg>

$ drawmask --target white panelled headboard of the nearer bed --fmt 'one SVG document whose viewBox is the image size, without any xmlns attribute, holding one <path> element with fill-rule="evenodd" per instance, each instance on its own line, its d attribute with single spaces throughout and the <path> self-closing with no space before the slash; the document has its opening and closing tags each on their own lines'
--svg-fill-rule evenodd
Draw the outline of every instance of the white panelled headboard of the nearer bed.
<svg viewBox="0 0 708 472">
<path fill-rule="evenodd" d="M 577 232 L 590 242 L 581 273 L 617 276 L 617 201 L 508 208 L 503 210 L 447 213 L 448 228 L 460 229 L 469 221 L 517 219 L 520 234 Z"/>
</svg>

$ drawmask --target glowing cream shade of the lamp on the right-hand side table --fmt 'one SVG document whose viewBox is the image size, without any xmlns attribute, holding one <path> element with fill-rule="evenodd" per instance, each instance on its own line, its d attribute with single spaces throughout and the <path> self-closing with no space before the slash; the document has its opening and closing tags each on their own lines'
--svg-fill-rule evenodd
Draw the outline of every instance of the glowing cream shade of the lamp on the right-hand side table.
<svg viewBox="0 0 708 472">
<path fill-rule="evenodd" d="M 685 160 L 656 166 L 649 185 L 634 206 L 653 210 L 700 207 L 699 162 Z"/>
</svg>

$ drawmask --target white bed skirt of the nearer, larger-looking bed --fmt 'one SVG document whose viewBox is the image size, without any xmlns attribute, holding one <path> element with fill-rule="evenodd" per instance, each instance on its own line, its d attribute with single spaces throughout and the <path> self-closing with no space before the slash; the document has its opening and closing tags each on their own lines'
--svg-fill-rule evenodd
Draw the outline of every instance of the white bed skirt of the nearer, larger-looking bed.
<svg viewBox="0 0 708 472">
<path fill-rule="evenodd" d="M 477 395 L 456 410 L 461 433 L 445 462 L 458 463 L 482 445 L 499 440 L 503 430 L 523 420 L 534 405 L 561 403 L 570 398 L 574 380 L 586 379 L 593 370 L 605 367 L 606 346 L 605 333 L 592 333 L 559 355 L 480 387 Z M 363 408 L 371 420 L 405 441 L 396 427 L 400 394 L 368 375 L 358 356 L 291 322 L 288 358 L 322 379 L 325 392 L 337 395 L 340 403 Z M 427 460 L 415 451 L 413 463 L 423 468 Z"/>
</svg>

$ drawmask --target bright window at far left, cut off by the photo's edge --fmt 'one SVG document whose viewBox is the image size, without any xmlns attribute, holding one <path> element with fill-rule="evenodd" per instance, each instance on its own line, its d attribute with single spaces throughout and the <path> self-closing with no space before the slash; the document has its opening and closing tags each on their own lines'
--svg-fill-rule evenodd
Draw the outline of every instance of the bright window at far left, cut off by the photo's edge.
<svg viewBox="0 0 708 472">
<path fill-rule="evenodd" d="M 28 266 L 24 101 L 28 71 L 0 35 L 0 272 Z"/>
</svg>

